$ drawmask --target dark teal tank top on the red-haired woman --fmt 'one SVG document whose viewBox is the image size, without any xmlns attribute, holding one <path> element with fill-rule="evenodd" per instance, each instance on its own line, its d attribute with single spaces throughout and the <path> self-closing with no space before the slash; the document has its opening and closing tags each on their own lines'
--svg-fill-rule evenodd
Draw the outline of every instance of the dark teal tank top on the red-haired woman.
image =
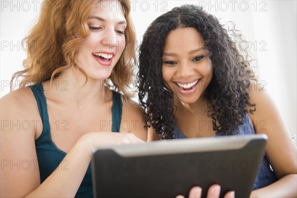
<svg viewBox="0 0 297 198">
<path fill-rule="evenodd" d="M 61 163 L 61 170 L 67 170 L 67 161 L 63 158 L 67 153 L 57 148 L 51 139 L 47 99 L 42 83 L 30 86 L 36 99 L 38 110 L 43 124 L 41 135 L 35 140 L 36 153 L 39 165 L 40 180 L 43 183 Z M 112 132 L 120 131 L 122 116 L 122 100 L 119 93 L 112 91 Z M 75 198 L 93 198 L 91 163 L 84 179 L 75 195 Z"/>
</svg>

